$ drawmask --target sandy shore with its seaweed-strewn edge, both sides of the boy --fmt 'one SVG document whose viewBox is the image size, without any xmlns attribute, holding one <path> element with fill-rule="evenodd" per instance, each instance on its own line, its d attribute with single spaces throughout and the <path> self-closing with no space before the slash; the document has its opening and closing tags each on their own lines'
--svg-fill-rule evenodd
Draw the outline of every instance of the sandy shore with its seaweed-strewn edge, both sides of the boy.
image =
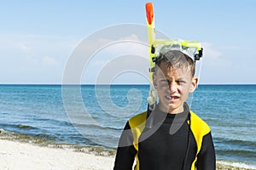
<svg viewBox="0 0 256 170">
<path fill-rule="evenodd" d="M 35 166 L 37 169 L 113 169 L 115 152 L 102 146 L 57 144 L 0 129 L 1 169 L 29 169 Z M 217 161 L 217 170 L 253 169 L 231 165 L 229 162 Z"/>
</svg>

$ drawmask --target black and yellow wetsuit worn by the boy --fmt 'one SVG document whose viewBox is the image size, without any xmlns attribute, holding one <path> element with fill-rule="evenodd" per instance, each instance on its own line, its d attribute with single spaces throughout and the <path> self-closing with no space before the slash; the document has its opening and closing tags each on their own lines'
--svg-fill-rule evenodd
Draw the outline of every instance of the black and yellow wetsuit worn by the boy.
<svg viewBox="0 0 256 170">
<path fill-rule="evenodd" d="M 182 113 L 158 109 L 154 126 L 145 126 L 147 113 L 133 116 L 119 140 L 114 170 L 215 170 L 215 151 L 207 123 L 184 105 Z"/>
</svg>

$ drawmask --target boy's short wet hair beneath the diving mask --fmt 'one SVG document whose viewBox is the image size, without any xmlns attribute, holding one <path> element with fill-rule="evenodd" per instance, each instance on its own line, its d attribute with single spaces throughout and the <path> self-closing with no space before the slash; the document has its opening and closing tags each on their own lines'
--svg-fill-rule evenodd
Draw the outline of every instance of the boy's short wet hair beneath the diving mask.
<svg viewBox="0 0 256 170">
<path fill-rule="evenodd" d="M 155 68 L 154 71 L 157 70 L 157 66 L 159 67 L 161 63 L 166 63 L 167 67 L 177 67 L 177 68 L 185 68 L 187 71 L 191 72 L 191 76 L 195 76 L 195 62 L 193 59 L 189 57 L 187 54 L 183 54 L 179 50 L 169 50 L 164 54 L 159 54 L 159 56 L 155 59 Z"/>
</svg>

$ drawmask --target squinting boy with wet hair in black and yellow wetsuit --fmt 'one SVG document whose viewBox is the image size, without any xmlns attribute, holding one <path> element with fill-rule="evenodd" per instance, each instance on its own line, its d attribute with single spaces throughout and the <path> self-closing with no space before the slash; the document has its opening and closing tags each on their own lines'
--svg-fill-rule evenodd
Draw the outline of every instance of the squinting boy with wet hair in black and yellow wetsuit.
<svg viewBox="0 0 256 170">
<path fill-rule="evenodd" d="M 215 170 L 210 128 L 185 102 L 198 83 L 194 60 L 170 49 L 155 65 L 159 102 L 149 116 L 144 112 L 126 123 L 113 169 L 131 170 L 136 158 L 136 170 Z"/>
</svg>

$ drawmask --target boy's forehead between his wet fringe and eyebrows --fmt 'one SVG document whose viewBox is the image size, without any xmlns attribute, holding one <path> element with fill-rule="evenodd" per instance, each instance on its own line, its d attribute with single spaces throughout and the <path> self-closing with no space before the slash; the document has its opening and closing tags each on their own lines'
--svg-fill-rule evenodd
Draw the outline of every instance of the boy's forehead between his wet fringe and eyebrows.
<svg viewBox="0 0 256 170">
<path fill-rule="evenodd" d="M 166 62 L 156 66 L 157 77 L 191 78 L 189 67 L 180 65 L 168 65 Z"/>
</svg>

